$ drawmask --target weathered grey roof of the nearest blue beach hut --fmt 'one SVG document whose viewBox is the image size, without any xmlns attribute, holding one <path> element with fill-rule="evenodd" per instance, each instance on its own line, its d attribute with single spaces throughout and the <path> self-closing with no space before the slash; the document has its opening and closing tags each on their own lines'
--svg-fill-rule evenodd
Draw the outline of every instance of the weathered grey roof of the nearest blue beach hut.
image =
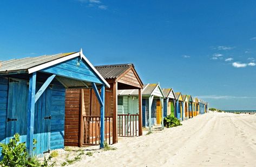
<svg viewBox="0 0 256 167">
<path fill-rule="evenodd" d="M 57 55 L 43 55 L 39 57 L 26 57 L 21 59 L 10 59 L 9 61 L 2 61 L 0 66 L 0 72 L 11 71 L 23 71 L 28 70 L 34 66 L 38 66 L 44 63 L 54 61 L 55 59 L 74 54 L 76 52 L 70 52 Z"/>
</svg>

